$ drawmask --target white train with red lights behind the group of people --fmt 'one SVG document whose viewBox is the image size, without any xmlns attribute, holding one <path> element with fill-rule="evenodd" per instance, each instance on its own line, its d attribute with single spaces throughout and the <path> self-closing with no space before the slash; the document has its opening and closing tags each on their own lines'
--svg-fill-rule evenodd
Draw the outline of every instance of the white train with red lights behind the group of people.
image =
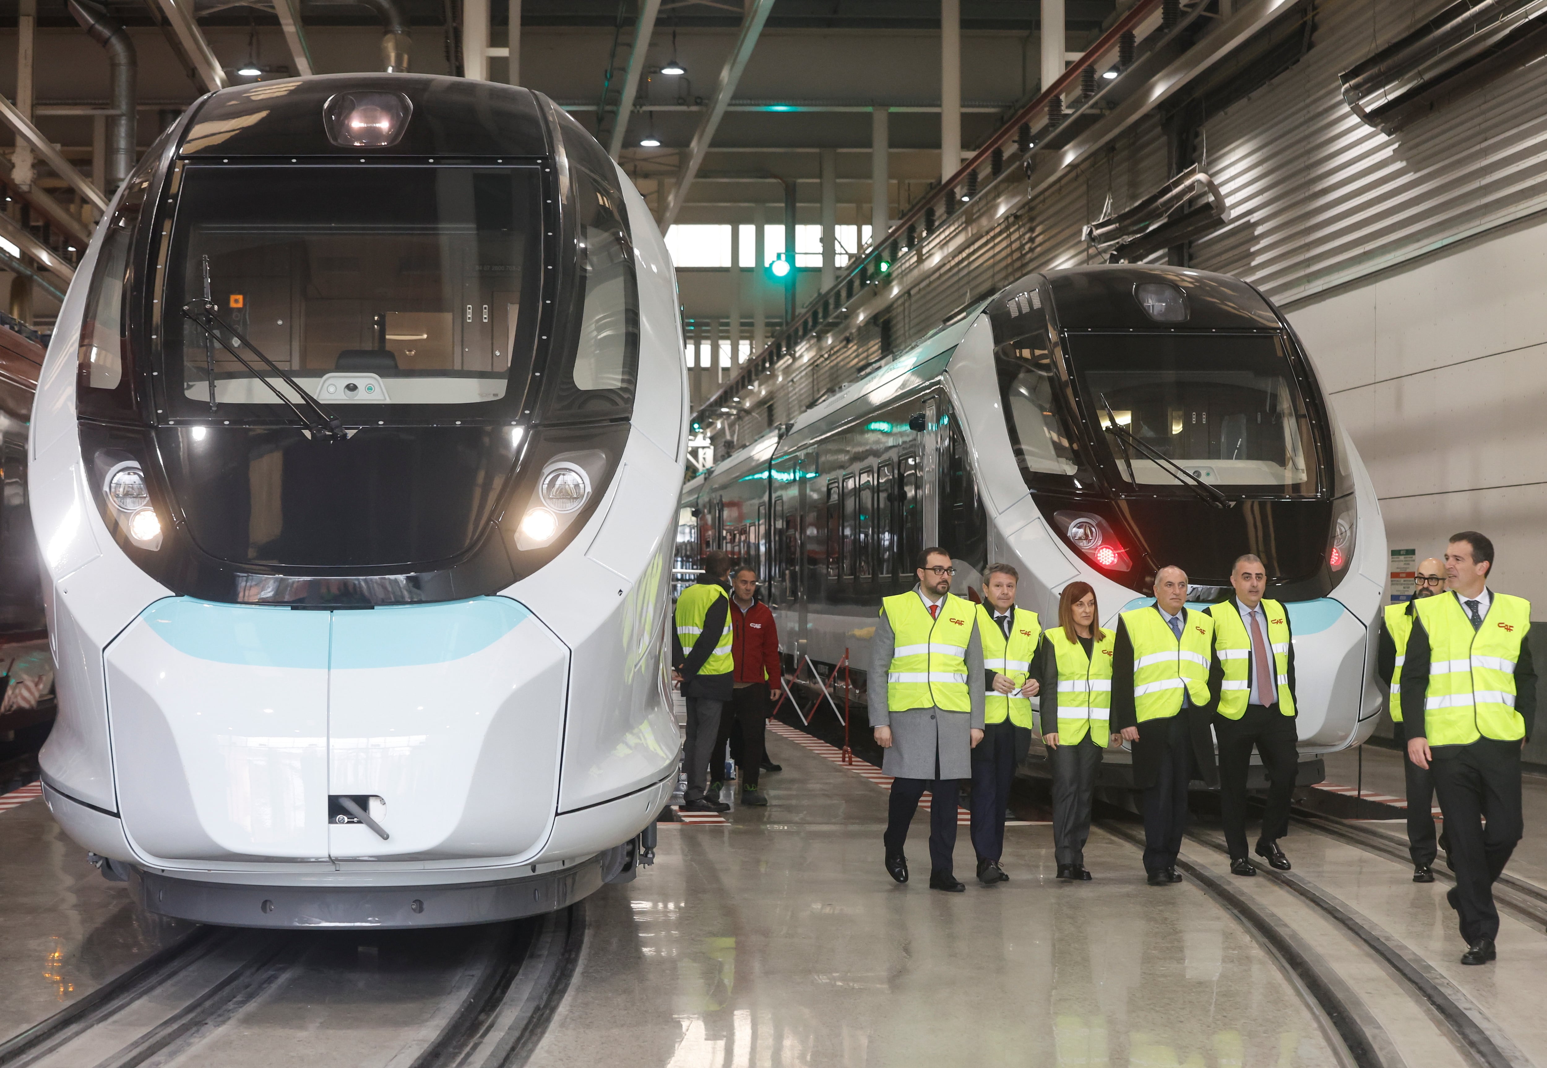
<svg viewBox="0 0 1547 1068">
<path fill-rule="evenodd" d="M 1211 602 L 1256 553 L 1295 633 L 1299 782 L 1381 709 L 1374 488 L 1295 331 L 1236 279 L 1027 276 L 690 481 L 679 522 L 696 526 L 679 565 L 709 548 L 760 565 L 787 658 L 848 650 L 859 670 L 925 545 L 951 551 L 962 596 L 1013 563 L 1044 625 L 1089 582 L 1106 627 L 1163 565 Z M 1103 775 L 1131 782 L 1122 757 Z"/>
</svg>

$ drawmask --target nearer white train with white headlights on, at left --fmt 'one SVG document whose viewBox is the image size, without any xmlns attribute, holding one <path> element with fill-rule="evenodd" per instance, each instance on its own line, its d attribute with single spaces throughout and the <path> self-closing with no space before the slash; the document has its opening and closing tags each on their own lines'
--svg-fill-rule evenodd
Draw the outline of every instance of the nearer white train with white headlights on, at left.
<svg viewBox="0 0 1547 1068">
<path fill-rule="evenodd" d="M 60 825 L 218 924 L 484 923 L 633 878 L 678 771 L 679 339 L 644 201 L 543 96 L 203 98 L 37 390 Z"/>
</svg>

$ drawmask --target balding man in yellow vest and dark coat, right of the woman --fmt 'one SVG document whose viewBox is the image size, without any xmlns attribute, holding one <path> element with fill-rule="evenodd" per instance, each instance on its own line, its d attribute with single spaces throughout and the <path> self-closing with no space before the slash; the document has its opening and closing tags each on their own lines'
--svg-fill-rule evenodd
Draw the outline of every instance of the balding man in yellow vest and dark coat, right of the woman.
<svg viewBox="0 0 1547 1068">
<path fill-rule="evenodd" d="M 1214 785 L 1208 732 L 1208 655 L 1214 621 L 1187 607 L 1187 573 L 1156 574 L 1156 602 L 1125 611 L 1112 644 L 1112 729 L 1134 748 L 1134 786 L 1143 791 L 1145 871 L 1149 885 L 1180 882 L 1176 854 L 1187 831 L 1187 786 L 1196 771 Z"/>
</svg>

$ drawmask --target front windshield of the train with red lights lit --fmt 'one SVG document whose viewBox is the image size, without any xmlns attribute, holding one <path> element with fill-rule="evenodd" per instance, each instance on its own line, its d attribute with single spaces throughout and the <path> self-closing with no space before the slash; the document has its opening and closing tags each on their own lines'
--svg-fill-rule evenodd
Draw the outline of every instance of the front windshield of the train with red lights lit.
<svg viewBox="0 0 1547 1068">
<path fill-rule="evenodd" d="M 1120 481 L 1318 492 L 1306 398 L 1279 336 L 1071 333 L 1066 345 Z"/>
</svg>

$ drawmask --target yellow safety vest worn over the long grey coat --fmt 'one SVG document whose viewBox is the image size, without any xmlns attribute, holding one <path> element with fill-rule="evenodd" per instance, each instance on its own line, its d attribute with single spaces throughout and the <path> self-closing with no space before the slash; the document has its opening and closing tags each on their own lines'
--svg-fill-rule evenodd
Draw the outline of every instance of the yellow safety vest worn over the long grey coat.
<svg viewBox="0 0 1547 1068">
<path fill-rule="evenodd" d="M 886 669 L 886 707 L 891 712 L 939 707 L 972 712 L 967 695 L 967 645 L 978 622 L 973 604 L 947 593 L 937 618 L 930 616 L 917 591 L 880 602 L 891 624 L 893 650 Z"/>
</svg>

